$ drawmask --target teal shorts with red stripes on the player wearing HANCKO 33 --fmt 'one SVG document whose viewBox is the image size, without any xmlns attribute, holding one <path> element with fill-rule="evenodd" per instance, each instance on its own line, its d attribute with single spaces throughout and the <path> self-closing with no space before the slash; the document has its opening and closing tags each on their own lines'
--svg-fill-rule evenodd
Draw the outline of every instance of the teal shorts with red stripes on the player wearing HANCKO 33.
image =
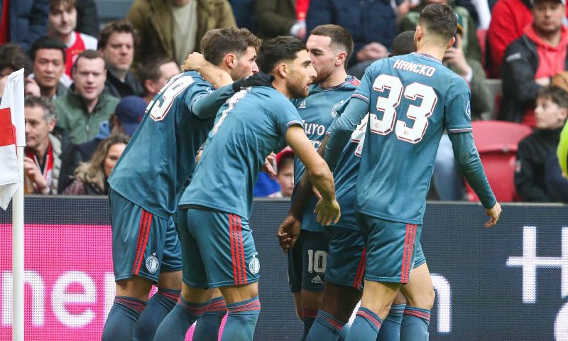
<svg viewBox="0 0 568 341">
<path fill-rule="evenodd" d="M 422 264 L 425 261 L 420 247 L 422 225 L 383 220 L 359 212 L 355 216 L 366 246 L 365 279 L 408 283 L 417 261 Z"/>
</svg>

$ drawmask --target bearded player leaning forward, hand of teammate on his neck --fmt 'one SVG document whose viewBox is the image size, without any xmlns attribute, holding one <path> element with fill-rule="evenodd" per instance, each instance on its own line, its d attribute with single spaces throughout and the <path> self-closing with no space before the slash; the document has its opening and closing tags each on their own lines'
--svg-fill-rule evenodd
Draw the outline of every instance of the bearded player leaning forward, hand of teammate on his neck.
<svg viewBox="0 0 568 341">
<path fill-rule="evenodd" d="M 320 220 L 339 218 L 329 168 L 304 134 L 291 97 L 305 97 L 315 70 L 297 38 L 268 40 L 259 50 L 261 70 L 275 77 L 272 87 L 238 92 L 219 109 L 192 183 L 180 200 L 184 245 L 180 301 L 163 321 L 155 340 L 183 340 L 190 325 L 220 288 L 229 310 L 222 340 L 252 340 L 260 311 L 260 261 L 248 220 L 253 185 L 271 151 L 282 140 L 304 162 L 324 200 Z"/>
</svg>

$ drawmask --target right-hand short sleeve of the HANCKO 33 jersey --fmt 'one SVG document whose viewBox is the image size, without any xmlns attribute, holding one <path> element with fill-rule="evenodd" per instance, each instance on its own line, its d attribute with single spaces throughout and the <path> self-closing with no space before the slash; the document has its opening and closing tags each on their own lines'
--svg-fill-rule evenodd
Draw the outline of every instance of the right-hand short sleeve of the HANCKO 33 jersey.
<svg viewBox="0 0 568 341">
<path fill-rule="evenodd" d="M 471 93 L 464 80 L 457 82 L 448 91 L 444 104 L 444 126 L 448 134 L 471 131 Z"/>
</svg>

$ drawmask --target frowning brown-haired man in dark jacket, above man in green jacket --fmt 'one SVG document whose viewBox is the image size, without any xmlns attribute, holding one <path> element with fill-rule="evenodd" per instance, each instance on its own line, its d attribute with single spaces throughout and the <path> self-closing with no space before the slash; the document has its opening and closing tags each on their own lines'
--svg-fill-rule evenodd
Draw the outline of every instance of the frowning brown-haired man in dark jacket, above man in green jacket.
<svg viewBox="0 0 568 341">
<path fill-rule="evenodd" d="M 114 97 L 143 95 L 142 85 L 130 72 L 134 40 L 134 26 L 126 20 L 107 23 L 99 36 L 99 53 L 108 70 L 104 91 Z"/>
</svg>

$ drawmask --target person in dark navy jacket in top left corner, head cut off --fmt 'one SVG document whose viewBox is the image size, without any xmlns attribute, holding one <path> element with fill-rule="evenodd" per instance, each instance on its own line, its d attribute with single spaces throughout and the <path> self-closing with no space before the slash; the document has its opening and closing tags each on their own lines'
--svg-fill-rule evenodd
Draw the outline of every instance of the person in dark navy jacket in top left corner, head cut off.
<svg viewBox="0 0 568 341">
<path fill-rule="evenodd" d="M 45 36 L 49 0 L 0 0 L 0 45 L 15 43 L 29 51 L 31 43 Z"/>
</svg>

